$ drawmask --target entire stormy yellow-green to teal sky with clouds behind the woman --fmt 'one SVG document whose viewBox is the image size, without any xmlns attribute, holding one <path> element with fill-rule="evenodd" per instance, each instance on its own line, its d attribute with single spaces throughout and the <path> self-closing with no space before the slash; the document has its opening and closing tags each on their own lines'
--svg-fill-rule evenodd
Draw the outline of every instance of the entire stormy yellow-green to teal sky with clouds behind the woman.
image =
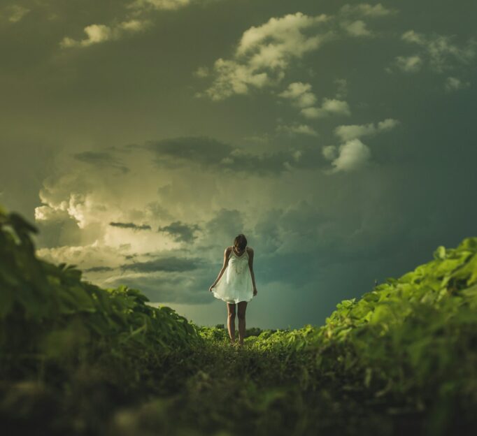
<svg viewBox="0 0 477 436">
<path fill-rule="evenodd" d="M 247 327 L 476 236 L 477 3 L 3 0 L 0 204 L 36 254 L 199 325 L 244 233 Z"/>
</svg>

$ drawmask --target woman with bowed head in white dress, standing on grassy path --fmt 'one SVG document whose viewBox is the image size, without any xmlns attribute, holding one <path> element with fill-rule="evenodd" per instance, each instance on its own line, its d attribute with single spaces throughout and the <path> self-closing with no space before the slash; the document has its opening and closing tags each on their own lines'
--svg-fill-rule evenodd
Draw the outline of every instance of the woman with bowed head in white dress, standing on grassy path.
<svg viewBox="0 0 477 436">
<path fill-rule="evenodd" d="M 238 304 L 238 344 L 243 347 L 245 310 L 248 301 L 257 295 L 253 274 L 253 250 L 247 247 L 247 238 L 243 233 L 236 236 L 232 247 L 225 249 L 224 265 L 208 290 L 213 292 L 215 298 L 227 303 L 227 328 L 232 344 L 235 344 L 235 304 Z"/>
</svg>

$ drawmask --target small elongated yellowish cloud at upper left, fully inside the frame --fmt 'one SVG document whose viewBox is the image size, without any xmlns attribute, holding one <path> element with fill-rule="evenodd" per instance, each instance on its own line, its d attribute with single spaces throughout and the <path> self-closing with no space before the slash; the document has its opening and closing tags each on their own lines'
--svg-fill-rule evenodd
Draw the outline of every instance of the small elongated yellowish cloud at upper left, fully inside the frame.
<svg viewBox="0 0 477 436">
<path fill-rule="evenodd" d="M 127 34 L 136 34 L 148 29 L 150 22 L 147 20 L 128 20 L 107 26 L 106 24 L 90 24 L 85 27 L 86 38 L 75 40 L 66 36 L 59 43 L 62 48 L 89 47 L 90 45 L 104 43 L 106 41 L 117 41 Z"/>
</svg>

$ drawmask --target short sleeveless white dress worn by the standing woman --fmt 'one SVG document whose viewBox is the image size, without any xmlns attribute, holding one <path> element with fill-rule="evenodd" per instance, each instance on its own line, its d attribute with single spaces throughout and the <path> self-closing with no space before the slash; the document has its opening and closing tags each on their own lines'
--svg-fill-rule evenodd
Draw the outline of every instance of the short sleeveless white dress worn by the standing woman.
<svg viewBox="0 0 477 436">
<path fill-rule="evenodd" d="M 222 277 L 212 288 L 215 298 L 226 303 L 250 301 L 253 298 L 252 274 L 248 266 L 248 251 L 238 256 L 234 249 L 229 254 L 229 262 Z"/>
</svg>

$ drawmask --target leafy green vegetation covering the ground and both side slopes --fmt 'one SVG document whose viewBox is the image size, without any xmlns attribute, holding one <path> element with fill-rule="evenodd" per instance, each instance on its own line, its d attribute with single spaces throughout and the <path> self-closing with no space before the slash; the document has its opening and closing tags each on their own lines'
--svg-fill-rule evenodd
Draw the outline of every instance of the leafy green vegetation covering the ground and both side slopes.
<svg viewBox="0 0 477 436">
<path fill-rule="evenodd" d="M 0 210 L 5 434 L 466 435 L 477 425 L 477 238 L 324 326 L 194 325 L 136 289 L 37 259 L 36 228 Z"/>
</svg>

